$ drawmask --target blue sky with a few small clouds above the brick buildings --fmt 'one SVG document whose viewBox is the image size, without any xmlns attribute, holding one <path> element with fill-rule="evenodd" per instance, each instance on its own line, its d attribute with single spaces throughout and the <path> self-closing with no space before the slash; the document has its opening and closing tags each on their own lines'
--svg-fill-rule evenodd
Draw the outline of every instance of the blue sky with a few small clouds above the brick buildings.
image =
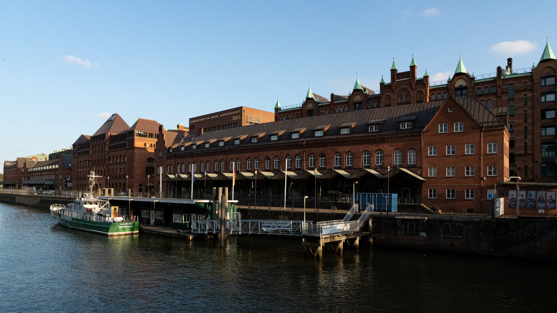
<svg viewBox="0 0 557 313">
<path fill-rule="evenodd" d="M 430 81 L 531 67 L 557 2 L 0 1 L 0 161 L 50 153 L 112 114 L 175 128 L 237 106 L 273 111 L 307 87 L 379 89 L 396 58 Z M 1 171 L 1 169 L 0 169 Z"/>
</svg>

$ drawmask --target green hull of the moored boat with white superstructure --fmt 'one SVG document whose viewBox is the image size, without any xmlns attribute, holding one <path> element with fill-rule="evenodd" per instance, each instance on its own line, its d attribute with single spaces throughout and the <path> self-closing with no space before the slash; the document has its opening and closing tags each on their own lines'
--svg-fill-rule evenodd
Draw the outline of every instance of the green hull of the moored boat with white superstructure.
<svg viewBox="0 0 557 313">
<path fill-rule="evenodd" d="M 60 225 L 70 228 L 102 233 L 109 236 L 139 233 L 139 222 L 97 222 L 61 215 L 53 210 L 50 210 L 50 213 L 52 216 L 56 217 Z"/>
</svg>

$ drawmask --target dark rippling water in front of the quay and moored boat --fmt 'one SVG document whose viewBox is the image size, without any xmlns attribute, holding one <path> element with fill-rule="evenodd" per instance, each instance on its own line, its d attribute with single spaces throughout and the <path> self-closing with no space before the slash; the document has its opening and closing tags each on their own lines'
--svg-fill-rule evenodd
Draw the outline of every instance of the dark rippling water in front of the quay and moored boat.
<svg viewBox="0 0 557 313">
<path fill-rule="evenodd" d="M 424 256 L 425 255 L 425 256 Z M 557 312 L 552 262 L 300 239 L 183 241 L 70 230 L 0 203 L 0 312 Z"/>
</svg>

